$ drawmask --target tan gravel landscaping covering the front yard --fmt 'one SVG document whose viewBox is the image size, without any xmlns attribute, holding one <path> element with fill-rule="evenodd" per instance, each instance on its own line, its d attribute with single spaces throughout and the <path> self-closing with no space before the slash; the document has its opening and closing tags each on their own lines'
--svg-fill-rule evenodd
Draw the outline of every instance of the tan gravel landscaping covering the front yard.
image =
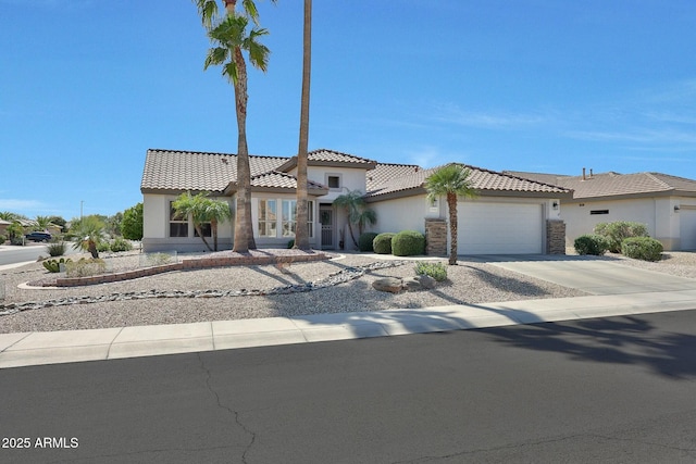
<svg viewBox="0 0 696 464">
<path fill-rule="evenodd" d="M 613 255 L 605 259 L 696 278 L 694 253 L 666 253 L 666 258 L 660 263 Z M 137 266 L 138 255 L 114 255 L 107 261 L 113 271 L 128 269 Z M 381 277 L 412 277 L 413 267 L 412 261 L 346 254 L 330 261 L 181 271 L 76 288 L 20 288 L 24 283 L 51 278 L 40 263 L 33 263 L 0 272 L 0 281 L 5 286 L 5 299 L 0 300 L 0 314 L 5 314 L 0 315 L 0 333 L 415 309 L 585 294 L 469 260 L 448 266 L 448 279 L 433 290 L 393 294 L 372 288 L 372 283 Z M 17 306 L 36 309 L 14 312 L 12 308 Z"/>
</svg>

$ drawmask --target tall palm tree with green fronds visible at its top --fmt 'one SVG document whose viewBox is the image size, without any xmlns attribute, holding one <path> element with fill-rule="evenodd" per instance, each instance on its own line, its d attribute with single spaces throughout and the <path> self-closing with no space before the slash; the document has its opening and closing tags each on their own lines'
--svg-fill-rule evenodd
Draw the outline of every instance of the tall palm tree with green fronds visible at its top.
<svg viewBox="0 0 696 464">
<path fill-rule="evenodd" d="M 259 12 L 252 0 L 243 0 L 243 12 L 236 11 L 237 0 L 223 0 L 226 15 L 217 16 L 216 0 L 194 0 L 198 7 L 208 36 L 216 45 L 208 51 L 204 68 L 222 65 L 222 74 L 234 85 L 237 116 L 237 214 L 235 220 L 234 251 L 256 249 L 251 223 L 251 170 L 247 145 L 247 65 L 243 51 L 254 67 L 265 72 L 270 50 L 258 39 L 266 29 L 252 27 L 247 33 L 249 20 L 258 26 Z M 275 2 L 274 0 L 272 0 Z"/>
</svg>

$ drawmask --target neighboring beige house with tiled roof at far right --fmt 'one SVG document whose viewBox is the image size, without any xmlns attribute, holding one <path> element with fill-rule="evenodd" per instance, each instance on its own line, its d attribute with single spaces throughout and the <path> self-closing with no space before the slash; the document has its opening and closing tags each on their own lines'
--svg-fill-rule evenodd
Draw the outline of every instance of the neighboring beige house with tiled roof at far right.
<svg viewBox="0 0 696 464">
<path fill-rule="evenodd" d="M 666 250 L 696 250 L 696 180 L 661 173 L 508 173 L 573 190 L 563 200 L 569 247 L 598 223 L 633 221 L 646 224 Z"/>
</svg>

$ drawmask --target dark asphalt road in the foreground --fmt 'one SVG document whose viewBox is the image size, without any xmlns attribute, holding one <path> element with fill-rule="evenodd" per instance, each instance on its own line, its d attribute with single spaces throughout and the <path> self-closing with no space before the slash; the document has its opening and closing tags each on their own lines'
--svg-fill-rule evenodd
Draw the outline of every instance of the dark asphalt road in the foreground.
<svg viewBox="0 0 696 464">
<path fill-rule="evenodd" d="M 0 462 L 695 462 L 695 323 L 685 311 L 3 369 Z"/>
</svg>

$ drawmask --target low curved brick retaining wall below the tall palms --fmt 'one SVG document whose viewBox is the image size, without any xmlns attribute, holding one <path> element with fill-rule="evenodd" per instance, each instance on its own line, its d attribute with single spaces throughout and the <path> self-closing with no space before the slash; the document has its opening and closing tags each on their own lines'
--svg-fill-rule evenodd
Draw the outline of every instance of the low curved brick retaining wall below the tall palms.
<svg viewBox="0 0 696 464">
<path fill-rule="evenodd" d="M 134 271 L 124 271 L 113 274 L 100 274 L 90 277 L 65 277 L 49 284 L 54 287 L 79 287 L 84 285 L 108 284 L 112 281 L 130 280 L 134 278 L 148 277 L 157 274 L 170 273 L 172 271 L 194 271 L 209 267 L 225 266 L 258 266 L 278 263 L 306 263 L 310 261 L 327 260 L 325 253 L 299 254 L 287 256 L 228 256 L 228 258 L 199 258 L 183 260 L 181 263 L 164 264 L 161 266 L 144 267 Z"/>
</svg>

